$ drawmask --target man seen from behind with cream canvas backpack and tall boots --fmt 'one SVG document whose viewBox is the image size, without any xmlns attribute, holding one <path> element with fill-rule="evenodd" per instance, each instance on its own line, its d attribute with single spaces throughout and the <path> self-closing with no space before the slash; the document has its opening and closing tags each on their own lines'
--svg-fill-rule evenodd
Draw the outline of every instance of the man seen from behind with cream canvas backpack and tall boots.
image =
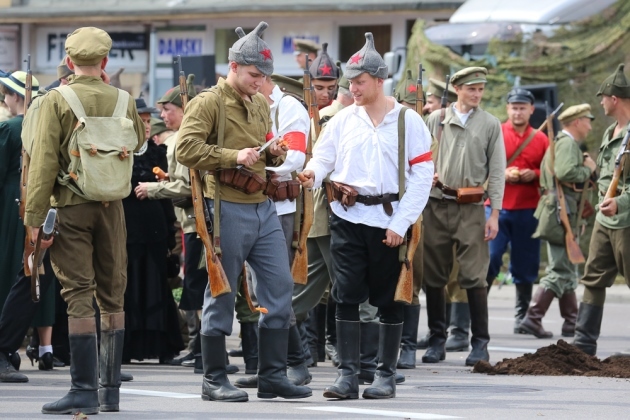
<svg viewBox="0 0 630 420">
<path fill-rule="evenodd" d="M 44 405 L 45 414 L 118 411 L 127 282 L 121 200 L 131 191 L 133 152 L 144 143 L 145 128 L 134 99 L 104 83 L 111 46 L 98 28 L 68 35 L 66 64 L 75 76 L 42 99 L 31 154 L 24 224 L 34 241 L 50 248 L 68 303 L 72 360 L 70 391 Z M 38 227 L 51 205 L 60 234 L 43 240 Z M 101 311 L 100 363 L 94 296 Z"/>
</svg>

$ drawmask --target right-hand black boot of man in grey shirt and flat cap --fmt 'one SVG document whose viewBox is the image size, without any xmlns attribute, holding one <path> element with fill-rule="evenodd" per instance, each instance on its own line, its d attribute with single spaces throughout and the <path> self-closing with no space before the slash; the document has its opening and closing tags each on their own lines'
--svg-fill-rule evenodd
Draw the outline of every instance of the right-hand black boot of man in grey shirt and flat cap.
<svg viewBox="0 0 630 420">
<path fill-rule="evenodd" d="M 480 360 L 490 360 L 488 343 L 488 289 L 485 287 L 467 289 L 468 305 L 470 306 L 470 329 L 472 350 L 466 358 L 466 366 L 474 366 Z"/>
</svg>

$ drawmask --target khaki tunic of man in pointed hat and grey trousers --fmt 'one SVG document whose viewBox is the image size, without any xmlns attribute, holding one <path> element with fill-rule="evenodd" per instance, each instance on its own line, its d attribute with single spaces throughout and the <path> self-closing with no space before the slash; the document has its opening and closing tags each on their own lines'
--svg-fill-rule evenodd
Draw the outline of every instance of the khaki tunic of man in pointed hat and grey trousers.
<svg viewBox="0 0 630 420">
<path fill-rule="evenodd" d="M 214 93 L 203 91 L 186 106 L 184 119 L 175 146 L 177 161 L 188 168 L 206 171 L 235 168 L 238 152 L 265 144 L 271 132 L 269 104 L 265 97 L 256 94 L 245 101 L 225 79 L 217 84 L 221 99 Z M 223 147 L 217 146 L 219 127 L 219 100 L 225 104 L 225 138 Z M 275 156 L 268 150 L 249 168 L 263 179 L 265 167 L 277 166 Z M 214 197 L 214 176 L 204 176 L 204 196 Z M 233 203 L 262 203 L 267 196 L 258 191 L 245 194 L 222 185 L 221 200 Z"/>
</svg>

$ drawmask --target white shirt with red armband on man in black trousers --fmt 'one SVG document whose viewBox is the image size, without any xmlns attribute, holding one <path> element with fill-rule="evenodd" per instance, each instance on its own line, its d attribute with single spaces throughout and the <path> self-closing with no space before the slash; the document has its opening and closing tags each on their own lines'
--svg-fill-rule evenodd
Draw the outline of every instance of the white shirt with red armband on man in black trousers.
<svg viewBox="0 0 630 420">
<path fill-rule="evenodd" d="M 388 97 L 388 100 L 393 98 Z M 398 115 L 402 105 L 385 115 L 374 127 L 363 107 L 350 105 L 332 118 L 317 141 L 313 158 L 306 169 L 315 172 L 315 188 L 332 172 L 331 181 L 354 187 L 361 195 L 398 193 Z M 388 216 L 383 206 L 356 203 L 344 210 L 337 201 L 332 211 L 352 223 L 390 229 L 403 236 L 427 204 L 433 181 L 430 160 L 431 135 L 422 118 L 413 111 L 405 114 L 405 179 L 407 190 L 399 203 L 392 203 Z M 423 157 L 424 160 L 421 158 Z M 416 158 L 423 160 L 410 165 Z"/>
</svg>

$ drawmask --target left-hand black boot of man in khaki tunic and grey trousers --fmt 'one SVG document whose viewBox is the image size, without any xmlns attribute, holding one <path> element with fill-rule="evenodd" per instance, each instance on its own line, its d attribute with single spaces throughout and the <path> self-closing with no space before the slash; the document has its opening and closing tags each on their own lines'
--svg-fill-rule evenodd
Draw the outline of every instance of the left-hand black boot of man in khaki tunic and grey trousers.
<svg viewBox="0 0 630 420">
<path fill-rule="evenodd" d="M 201 354 L 203 360 L 203 384 L 201 399 L 204 401 L 242 402 L 248 400 L 247 392 L 235 388 L 227 378 L 225 371 L 225 336 L 201 336 Z"/>
</svg>

